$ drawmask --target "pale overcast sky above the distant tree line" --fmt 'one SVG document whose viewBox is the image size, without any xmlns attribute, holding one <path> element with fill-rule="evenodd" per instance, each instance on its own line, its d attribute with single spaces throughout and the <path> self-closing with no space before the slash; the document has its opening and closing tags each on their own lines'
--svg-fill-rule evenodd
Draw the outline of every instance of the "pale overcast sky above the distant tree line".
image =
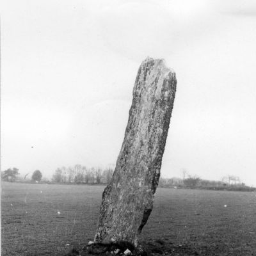
<svg viewBox="0 0 256 256">
<path fill-rule="evenodd" d="M 255 186 L 253 2 L 2 1 L 1 170 L 115 166 L 150 56 L 177 76 L 162 177 Z"/>
</svg>

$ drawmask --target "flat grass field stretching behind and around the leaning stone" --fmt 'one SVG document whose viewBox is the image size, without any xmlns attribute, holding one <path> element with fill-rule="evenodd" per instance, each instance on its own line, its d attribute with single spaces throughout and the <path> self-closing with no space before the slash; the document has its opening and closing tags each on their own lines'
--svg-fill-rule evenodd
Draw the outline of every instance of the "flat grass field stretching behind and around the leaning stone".
<svg viewBox="0 0 256 256">
<path fill-rule="evenodd" d="M 63 255 L 93 240 L 103 186 L 1 185 L 2 255 Z M 256 255 L 256 193 L 159 188 L 141 243 L 154 255 Z"/>
</svg>

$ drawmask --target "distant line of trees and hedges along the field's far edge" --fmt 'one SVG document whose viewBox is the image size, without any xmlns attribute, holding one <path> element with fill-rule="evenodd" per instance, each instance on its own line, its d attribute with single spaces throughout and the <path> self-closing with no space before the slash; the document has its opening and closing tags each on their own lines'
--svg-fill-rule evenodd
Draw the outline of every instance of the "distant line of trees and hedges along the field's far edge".
<svg viewBox="0 0 256 256">
<path fill-rule="evenodd" d="M 14 182 L 52 182 L 60 184 L 109 184 L 113 175 L 112 168 L 87 168 L 81 164 L 76 164 L 69 167 L 57 168 L 52 175 L 51 181 L 42 179 L 42 172 L 35 170 L 31 179 L 26 179 L 27 173 L 24 178 L 17 178 L 19 175 L 18 168 L 8 168 L 1 172 L 1 179 L 4 181 Z M 159 187 L 162 188 L 198 188 L 198 189 L 225 189 L 236 191 L 255 191 L 255 188 L 246 186 L 239 177 L 234 175 L 227 175 L 221 180 L 206 180 L 200 179 L 196 175 L 189 175 L 185 169 L 182 169 L 182 178 L 173 177 L 167 179 L 160 177 Z"/>
</svg>

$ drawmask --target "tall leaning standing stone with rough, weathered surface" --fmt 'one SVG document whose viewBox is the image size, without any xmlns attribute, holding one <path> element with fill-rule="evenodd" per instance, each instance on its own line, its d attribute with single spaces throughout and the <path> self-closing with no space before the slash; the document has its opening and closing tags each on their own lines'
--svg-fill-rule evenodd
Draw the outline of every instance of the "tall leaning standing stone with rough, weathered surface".
<svg viewBox="0 0 256 256">
<path fill-rule="evenodd" d="M 141 63 L 124 142 L 104 189 L 96 243 L 137 238 L 153 208 L 176 90 L 175 73 L 163 60 Z"/>
</svg>

